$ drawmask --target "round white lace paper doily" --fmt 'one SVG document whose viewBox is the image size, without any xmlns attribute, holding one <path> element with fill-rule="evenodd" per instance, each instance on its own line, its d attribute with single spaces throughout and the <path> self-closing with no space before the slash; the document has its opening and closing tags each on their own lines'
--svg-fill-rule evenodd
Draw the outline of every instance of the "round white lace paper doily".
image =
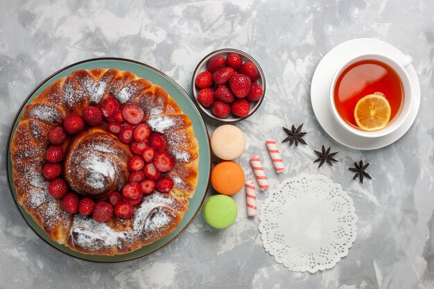
<svg viewBox="0 0 434 289">
<path fill-rule="evenodd" d="M 332 268 L 356 240 L 353 200 L 323 175 L 284 180 L 262 204 L 263 247 L 289 270 Z"/>
</svg>

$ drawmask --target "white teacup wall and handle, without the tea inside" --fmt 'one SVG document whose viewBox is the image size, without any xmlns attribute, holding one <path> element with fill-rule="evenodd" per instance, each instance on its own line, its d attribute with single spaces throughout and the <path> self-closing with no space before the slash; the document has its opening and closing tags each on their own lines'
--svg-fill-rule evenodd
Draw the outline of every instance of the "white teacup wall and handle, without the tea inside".
<svg viewBox="0 0 434 289">
<path fill-rule="evenodd" d="M 390 120 L 390 123 L 386 125 L 385 128 L 381 130 L 376 130 L 374 132 L 367 132 L 364 130 L 358 130 L 357 128 L 352 127 L 349 125 L 342 117 L 340 116 L 338 110 L 336 109 L 336 104 L 334 100 L 334 90 L 336 86 L 336 82 L 340 76 L 340 74 L 347 69 L 351 64 L 354 64 L 356 62 L 362 61 L 362 60 L 377 60 L 379 62 L 383 62 L 387 64 L 389 67 L 391 67 L 399 76 L 401 79 L 401 83 L 403 86 L 403 101 L 401 103 L 401 109 L 399 112 L 397 112 L 397 115 L 394 117 L 394 119 Z M 336 71 L 335 76 L 333 77 L 333 80 L 331 81 L 331 87 L 330 87 L 330 107 L 331 112 L 333 116 L 335 117 L 336 121 L 348 132 L 351 134 L 356 134 L 360 137 L 383 137 L 387 134 L 391 134 L 395 130 L 397 130 L 404 121 L 406 121 L 408 114 L 410 114 L 411 107 L 413 105 L 413 86 L 410 81 L 410 76 L 408 76 L 408 72 L 406 71 L 406 67 L 411 64 L 413 59 L 410 57 L 410 55 L 406 55 L 403 59 L 397 61 L 393 60 L 392 58 L 389 58 L 386 55 L 381 54 L 364 54 L 364 55 L 358 55 L 355 58 L 351 58 L 344 64 L 340 66 L 338 71 Z"/>
</svg>

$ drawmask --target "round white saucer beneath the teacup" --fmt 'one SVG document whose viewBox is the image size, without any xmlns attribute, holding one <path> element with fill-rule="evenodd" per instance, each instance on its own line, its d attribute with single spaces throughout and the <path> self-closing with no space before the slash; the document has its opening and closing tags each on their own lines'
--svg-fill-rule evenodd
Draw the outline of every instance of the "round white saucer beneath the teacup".
<svg viewBox="0 0 434 289">
<path fill-rule="evenodd" d="M 413 64 L 408 65 L 406 70 L 413 85 L 415 102 L 413 103 L 408 118 L 401 125 L 401 127 L 384 137 L 365 138 L 351 134 L 344 130 L 344 128 L 342 128 L 339 123 L 336 122 L 333 114 L 331 114 L 329 105 L 329 91 L 331 80 L 333 79 L 335 71 L 338 70 L 340 65 L 350 58 L 360 55 L 361 53 L 385 54 L 397 61 L 406 56 L 396 47 L 381 40 L 370 38 L 358 38 L 339 44 L 335 48 L 331 49 L 331 51 L 329 51 L 324 58 L 322 58 L 320 64 L 318 64 L 318 67 L 315 69 L 315 73 L 313 73 L 311 84 L 311 102 L 313 113 L 318 119 L 318 122 L 327 132 L 327 134 L 329 134 L 330 137 L 332 137 L 335 141 L 338 141 L 349 148 L 355 148 L 358 150 L 375 150 L 376 148 L 383 148 L 390 145 L 391 143 L 394 143 L 394 141 L 397 141 L 403 136 L 403 134 L 407 132 L 407 130 L 415 121 L 420 105 L 419 78 L 417 78 Z"/>
</svg>

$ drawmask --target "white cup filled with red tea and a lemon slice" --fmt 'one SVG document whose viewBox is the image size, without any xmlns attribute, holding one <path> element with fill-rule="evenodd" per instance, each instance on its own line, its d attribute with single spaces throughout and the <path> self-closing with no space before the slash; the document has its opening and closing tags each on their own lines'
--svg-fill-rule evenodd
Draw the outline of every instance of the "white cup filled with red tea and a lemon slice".
<svg viewBox="0 0 434 289">
<path fill-rule="evenodd" d="M 383 137 L 406 121 L 413 105 L 413 87 L 406 67 L 413 59 L 364 54 L 347 60 L 330 87 L 336 121 L 361 137 Z"/>
</svg>

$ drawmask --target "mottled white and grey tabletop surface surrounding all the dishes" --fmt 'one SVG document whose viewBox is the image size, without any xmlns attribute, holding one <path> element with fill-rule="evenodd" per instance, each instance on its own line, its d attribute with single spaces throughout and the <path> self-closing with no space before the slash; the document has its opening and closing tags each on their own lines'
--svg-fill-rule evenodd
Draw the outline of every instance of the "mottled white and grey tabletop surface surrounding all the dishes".
<svg viewBox="0 0 434 289">
<path fill-rule="evenodd" d="M 209 227 L 200 214 L 161 251 L 136 261 L 96 264 L 46 245 L 21 220 L 0 167 L 0 288 L 73 289 L 433 289 L 434 287 L 434 1 L 0 1 L 0 143 L 22 101 L 44 78 L 73 62 L 101 56 L 139 60 L 191 94 L 191 76 L 208 53 L 232 47 L 252 55 L 266 75 L 261 107 L 236 123 L 246 179 L 259 155 L 270 191 L 300 173 L 326 175 L 354 200 L 357 239 L 333 268 L 290 272 L 262 246 L 259 219 L 237 193 L 231 227 Z M 333 141 L 313 114 L 310 87 L 320 60 L 336 45 L 373 37 L 413 57 L 422 105 L 410 130 L 381 150 Z M 282 126 L 304 123 L 309 146 L 280 143 Z M 207 121 L 209 132 L 220 123 Z M 286 170 L 276 174 L 265 140 L 279 142 Z M 321 145 L 338 163 L 313 163 Z M 353 181 L 354 161 L 372 180 Z M 256 184 L 257 185 L 257 184 Z M 209 194 L 212 193 L 210 189 Z M 257 189 L 261 208 L 268 191 Z"/>
</svg>

